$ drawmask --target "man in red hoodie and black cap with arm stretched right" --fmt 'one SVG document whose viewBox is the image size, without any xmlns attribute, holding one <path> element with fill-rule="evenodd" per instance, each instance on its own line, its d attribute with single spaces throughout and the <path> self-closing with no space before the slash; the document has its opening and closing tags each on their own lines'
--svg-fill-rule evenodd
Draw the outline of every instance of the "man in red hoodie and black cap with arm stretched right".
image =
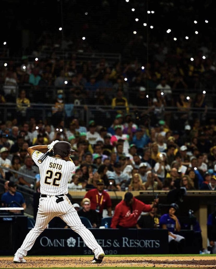
<svg viewBox="0 0 216 269">
<path fill-rule="evenodd" d="M 116 205 L 112 218 L 111 228 L 137 228 L 137 220 L 141 212 L 150 212 L 152 207 L 158 204 L 159 199 L 155 199 L 153 204 L 144 204 L 133 197 L 131 192 L 124 195 L 124 200 Z"/>
</svg>

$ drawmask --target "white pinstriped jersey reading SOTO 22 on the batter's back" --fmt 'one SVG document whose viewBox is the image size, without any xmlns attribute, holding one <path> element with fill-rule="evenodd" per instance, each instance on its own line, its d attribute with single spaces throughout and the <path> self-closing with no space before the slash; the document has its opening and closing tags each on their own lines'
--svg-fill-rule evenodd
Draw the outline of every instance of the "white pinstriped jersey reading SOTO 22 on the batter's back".
<svg viewBox="0 0 216 269">
<path fill-rule="evenodd" d="M 75 164 L 72 161 L 65 161 L 61 158 L 50 157 L 39 164 L 38 160 L 43 153 L 35 150 L 32 159 L 40 170 L 40 193 L 47 195 L 60 195 L 68 193 L 68 181 Z"/>
</svg>

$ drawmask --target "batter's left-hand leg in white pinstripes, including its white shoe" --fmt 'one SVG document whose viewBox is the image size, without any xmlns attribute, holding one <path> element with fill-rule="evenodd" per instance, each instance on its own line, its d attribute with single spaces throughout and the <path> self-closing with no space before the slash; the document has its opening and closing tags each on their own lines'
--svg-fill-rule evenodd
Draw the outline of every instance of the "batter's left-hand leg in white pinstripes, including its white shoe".
<svg viewBox="0 0 216 269">
<path fill-rule="evenodd" d="M 40 198 L 35 226 L 26 235 L 26 238 L 24 239 L 22 246 L 16 251 L 14 257 L 15 263 L 25 262 L 24 259 L 23 259 L 24 261 L 22 261 L 20 260 L 20 258 L 22 259 L 24 256 L 27 255 L 28 250 L 32 248 L 37 237 L 41 234 L 41 232 L 44 231 L 50 220 L 55 217 L 55 215 L 52 213 L 51 210 L 51 208 L 53 207 L 52 203 L 53 203 L 52 199 L 48 200 L 48 198 L 42 198 L 42 199 Z"/>
</svg>

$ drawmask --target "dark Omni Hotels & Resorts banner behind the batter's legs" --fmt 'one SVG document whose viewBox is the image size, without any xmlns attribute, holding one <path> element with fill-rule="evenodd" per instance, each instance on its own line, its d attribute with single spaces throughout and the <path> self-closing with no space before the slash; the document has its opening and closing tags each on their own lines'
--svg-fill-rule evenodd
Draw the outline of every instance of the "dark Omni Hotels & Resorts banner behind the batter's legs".
<svg viewBox="0 0 216 269">
<path fill-rule="evenodd" d="M 168 232 L 157 229 L 90 229 L 106 255 L 166 254 Z M 28 255 L 92 255 L 71 229 L 45 229 Z"/>
</svg>

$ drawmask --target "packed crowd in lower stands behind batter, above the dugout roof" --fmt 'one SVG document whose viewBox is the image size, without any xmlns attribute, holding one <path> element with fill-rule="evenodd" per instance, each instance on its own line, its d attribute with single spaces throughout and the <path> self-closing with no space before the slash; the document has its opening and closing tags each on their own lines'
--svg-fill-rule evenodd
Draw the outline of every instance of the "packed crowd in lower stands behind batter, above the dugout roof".
<svg viewBox="0 0 216 269">
<path fill-rule="evenodd" d="M 201 126 L 196 119 L 180 133 L 160 120 L 154 127 L 134 123 L 130 114 L 117 114 L 110 126 L 91 120 L 82 126 L 74 118 L 68 128 L 35 121 L 19 125 L 16 119 L 1 122 L 1 178 L 40 190 L 39 170 L 27 153 L 32 145 L 48 145 L 53 140 L 71 143 L 71 159 L 76 170 L 69 190 L 90 190 L 103 180 L 112 190 L 186 190 L 216 189 L 215 120 Z M 24 175 L 10 172 L 11 168 Z"/>
</svg>

